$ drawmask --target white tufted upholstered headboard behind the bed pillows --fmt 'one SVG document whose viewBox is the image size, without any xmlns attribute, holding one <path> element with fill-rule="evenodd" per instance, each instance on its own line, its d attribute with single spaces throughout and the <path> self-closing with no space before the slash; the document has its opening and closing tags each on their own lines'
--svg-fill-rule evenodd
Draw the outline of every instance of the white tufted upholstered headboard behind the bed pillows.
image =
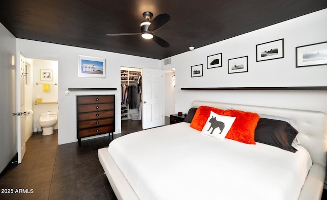
<svg viewBox="0 0 327 200">
<path fill-rule="evenodd" d="M 327 123 L 323 112 L 202 101 L 194 101 L 192 106 L 212 106 L 223 110 L 243 110 L 293 119 L 298 124 L 300 145 L 308 150 L 313 163 L 326 166 Z"/>
</svg>

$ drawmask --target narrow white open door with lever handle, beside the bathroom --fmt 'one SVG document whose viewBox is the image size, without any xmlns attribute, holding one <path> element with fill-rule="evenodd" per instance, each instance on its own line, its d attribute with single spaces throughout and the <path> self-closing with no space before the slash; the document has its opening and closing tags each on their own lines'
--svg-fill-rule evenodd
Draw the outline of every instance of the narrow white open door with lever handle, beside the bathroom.
<svg viewBox="0 0 327 200">
<path fill-rule="evenodd" d="M 13 113 L 17 115 L 17 153 L 18 164 L 21 163 L 22 158 L 26 152 L 25 145 L 25 58 L 17 52 L 17 65 L 16 65 L 16 109 L 17 112 Z"/>
</svg>

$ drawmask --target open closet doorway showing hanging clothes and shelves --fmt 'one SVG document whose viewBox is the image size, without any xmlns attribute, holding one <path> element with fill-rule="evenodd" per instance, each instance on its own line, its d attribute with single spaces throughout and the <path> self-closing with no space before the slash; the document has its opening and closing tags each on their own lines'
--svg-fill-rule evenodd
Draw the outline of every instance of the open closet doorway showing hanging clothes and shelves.
<svg viewBox="0 0 327 200">
<path fill-rule="evenodd" d="M 142 69 L 121 67 L 122 135 L 142 130 Z"/>
</svg>

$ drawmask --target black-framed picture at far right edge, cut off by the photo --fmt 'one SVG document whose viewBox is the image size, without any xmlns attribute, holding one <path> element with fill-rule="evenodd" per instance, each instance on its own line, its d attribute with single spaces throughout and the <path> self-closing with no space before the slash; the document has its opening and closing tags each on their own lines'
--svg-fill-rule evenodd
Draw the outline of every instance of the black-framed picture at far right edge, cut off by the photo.
<svg viewBox="0 0 327 200">
<path fill-rule="evenodd" d="M 296 67 L 327 65 L 327 42 L 298 46 Z"/>
</svg>

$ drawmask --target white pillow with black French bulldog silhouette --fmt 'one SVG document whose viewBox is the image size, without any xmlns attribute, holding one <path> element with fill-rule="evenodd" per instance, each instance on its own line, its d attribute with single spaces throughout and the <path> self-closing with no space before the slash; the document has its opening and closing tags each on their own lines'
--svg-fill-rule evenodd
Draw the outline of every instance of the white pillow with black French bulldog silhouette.
<svg viewBox="0 0 327 200">
<path fill-rule="evenodd" d="M 235 119 L 236 117 L 223 116 L 211 111 L 201 133 L 224 140 Z"/>
</svg>

